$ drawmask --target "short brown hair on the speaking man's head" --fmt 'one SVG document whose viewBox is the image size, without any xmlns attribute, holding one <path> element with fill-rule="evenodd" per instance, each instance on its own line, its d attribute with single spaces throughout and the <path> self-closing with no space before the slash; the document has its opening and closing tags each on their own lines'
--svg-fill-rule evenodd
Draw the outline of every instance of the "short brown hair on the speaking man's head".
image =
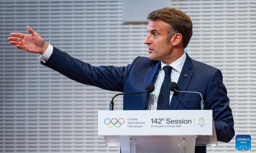
<svg viewBox="0 0 256 153">
<path fill-rule="evenodd" d="M 181 33 L 183 47 L 188 46 L 189 40 L 192 36 L 192 21 L 190 17 L 182 11 L 174 8 L 165 7 L 160 10 L 156 10 L 148 14 L 148 20 L 163 21 L 170 25 L 170 30 L 167 36 L 167 42 L 169 43 L 171 37 L 175 33 Z"/>
</svg>

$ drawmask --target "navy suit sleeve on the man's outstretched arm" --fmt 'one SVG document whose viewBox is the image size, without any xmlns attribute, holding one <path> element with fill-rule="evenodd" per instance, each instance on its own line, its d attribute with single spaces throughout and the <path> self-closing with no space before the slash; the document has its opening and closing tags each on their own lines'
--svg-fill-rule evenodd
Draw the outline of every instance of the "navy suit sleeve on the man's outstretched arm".
<svg viewBox="0 0 256 153">
<path fill-rule="evenodd" d="M 79 83 L 119 92 L 123 91 L 123 85 L 129 77 L 133 63 L 126 67 L 95 67 L 73 58 L 55 47 L 53 47 L 52 55 L 48 61 L 45 63 L 41 62 L 41 64 Z"/>
</svg>

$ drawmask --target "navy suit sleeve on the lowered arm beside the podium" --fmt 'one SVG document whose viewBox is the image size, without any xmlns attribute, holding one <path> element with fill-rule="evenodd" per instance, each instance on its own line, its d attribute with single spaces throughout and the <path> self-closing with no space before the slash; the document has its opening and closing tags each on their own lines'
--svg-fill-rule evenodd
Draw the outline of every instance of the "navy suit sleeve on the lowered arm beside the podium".
<svg viewBox="0 0 256 153">
<path fill-rule="evenodd" d="M 222 73 L 215 69 L 209 80 L 206 95 L 206 109 L 213 110 L 213 120 L 215 124 L 218 141 L 229 142 L 235 135 L 234 120 L 227 90 L 222 81 Z"/>
</svg>

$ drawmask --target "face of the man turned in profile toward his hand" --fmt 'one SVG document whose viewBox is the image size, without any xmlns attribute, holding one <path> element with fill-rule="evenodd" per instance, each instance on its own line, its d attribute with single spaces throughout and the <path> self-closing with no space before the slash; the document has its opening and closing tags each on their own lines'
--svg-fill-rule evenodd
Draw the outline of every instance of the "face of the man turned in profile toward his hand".
<svg viewBox="0 0 256 153">
<path fill-rule="evenodd" d="M 148 35 L 144 40 L 144 44 L 148 45 L 148 53 L 150 60 L 168 61 L 172 54 L 173 46 L 169 42 L 167 44 L 167 34 L 170 25 L 163 21 L 149 21 Z"/>
</svg>

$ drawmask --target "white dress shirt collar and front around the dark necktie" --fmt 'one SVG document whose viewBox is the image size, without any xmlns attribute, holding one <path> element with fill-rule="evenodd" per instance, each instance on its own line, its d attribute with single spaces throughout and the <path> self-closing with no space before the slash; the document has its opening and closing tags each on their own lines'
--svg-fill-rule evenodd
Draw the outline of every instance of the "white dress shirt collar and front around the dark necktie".
<svg viewBox="0 0 256 153">
<path fill-rule="evenodd" d="M 176 60 L 170 64 L 170 66 L 172 67 L 171 82 L 176 82 L 176 83 L 178 82 L 179 77 L 180 77 L 180 72 L 181 72 L 184 62 L 186 60 L 186 57 L 187 57 L 187 55 L 184 52 L 184 54 L 178 60 Z M 160 93 L 161 86 L 164 82 L 164 71 L 163 71 L 164 66 L 166 66 L 166 65 L 161 61 L 161 69 L 156 78 L 155 90 L 153 92 L 149 93 L 149 95 L 148 95 L 148 110 L 156 110 L 156 108 L 157 108 L 158 95 Z M 170 91 L 169 104 L 172 100 L 172 95 L 173 95 L 173 91 Z"/>
</svg>

